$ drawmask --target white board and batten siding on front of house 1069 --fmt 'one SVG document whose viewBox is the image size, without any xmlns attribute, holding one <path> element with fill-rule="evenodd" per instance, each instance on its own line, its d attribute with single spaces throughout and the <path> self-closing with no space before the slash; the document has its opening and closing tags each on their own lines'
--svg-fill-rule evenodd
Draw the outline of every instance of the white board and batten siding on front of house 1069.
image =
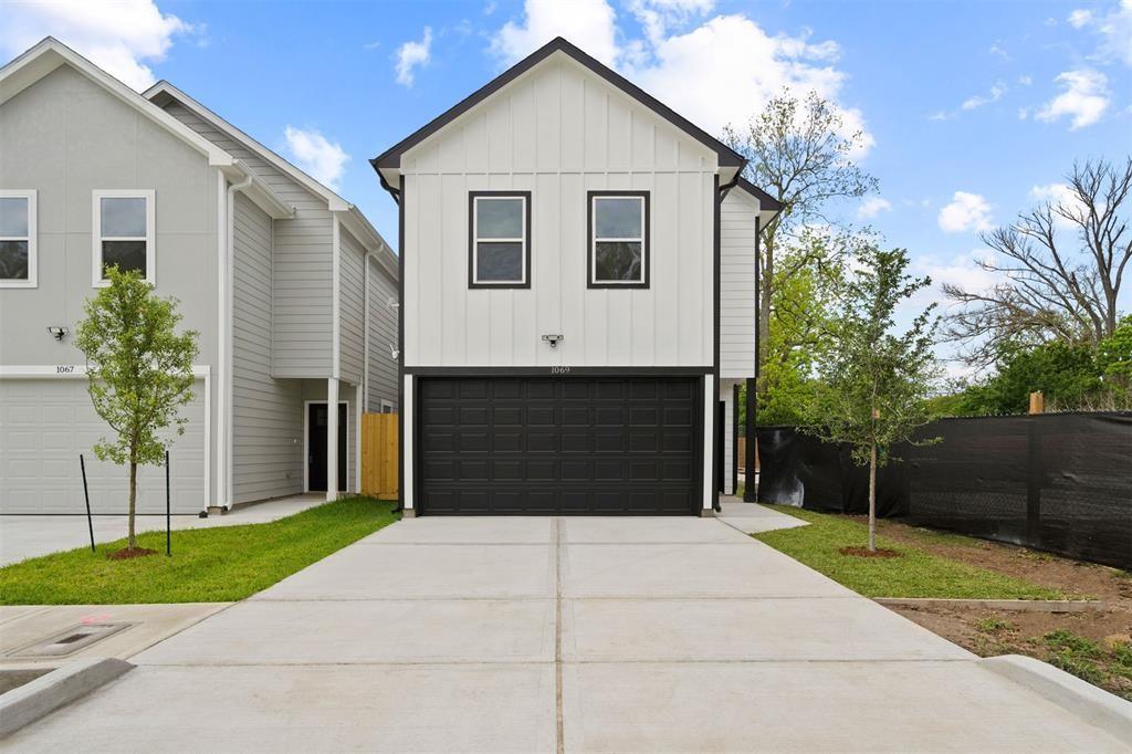
<svg viewBox="0 0 1132 754">
<path fill-rule="evenodd" d="M 401 158 L 405 366 L 711 367 L 717 165 L 573 60 L 515 79 Z M 501 189 L 531 192 L 531 288 L 469 290 L 469 191 Z M 586 286 L 600 189 L 651 192 L 646 290 Z"/>
</svg>

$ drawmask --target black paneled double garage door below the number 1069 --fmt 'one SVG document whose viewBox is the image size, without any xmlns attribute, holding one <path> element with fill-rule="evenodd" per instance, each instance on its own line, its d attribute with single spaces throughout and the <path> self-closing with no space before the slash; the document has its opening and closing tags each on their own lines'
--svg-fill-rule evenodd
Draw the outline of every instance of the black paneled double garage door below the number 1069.
<svg viewBox="0 0 1132 754">
<path fill-rule="evenodd" d="M 698 512 L 695 377 L 422 377 L 420 511 Z"/>
</svg>

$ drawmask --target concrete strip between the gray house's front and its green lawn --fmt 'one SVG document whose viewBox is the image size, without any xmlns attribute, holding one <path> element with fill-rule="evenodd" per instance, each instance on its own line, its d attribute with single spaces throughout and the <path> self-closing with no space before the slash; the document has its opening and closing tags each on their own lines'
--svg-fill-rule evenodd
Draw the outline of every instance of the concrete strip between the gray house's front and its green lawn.
<svg viewBox="0 0 1132 754">
<path fill-rule="evenodd" d="M 230 513 L 213 514 L 207 519 L 195 515 L 171 517 L 174 531 L 181 529 L 208 529 L 212 526 L 237 526 L 249 523 L 267 523 L 312 508 L 326 502 L 325 492 L 297 495 L 276 500 L 238 505 Z M 94 541 L 112 542 L 126 537 L 126 516 L 94 516 Z M 164 515 L 139 515 L 138 532 L 164 531 Z M 86 516 L 0 516 L 0 566 L 19 563 L 27 558 L 50 555 L 76 547 L 89 547 L 91 533 Z"/>
</svg>

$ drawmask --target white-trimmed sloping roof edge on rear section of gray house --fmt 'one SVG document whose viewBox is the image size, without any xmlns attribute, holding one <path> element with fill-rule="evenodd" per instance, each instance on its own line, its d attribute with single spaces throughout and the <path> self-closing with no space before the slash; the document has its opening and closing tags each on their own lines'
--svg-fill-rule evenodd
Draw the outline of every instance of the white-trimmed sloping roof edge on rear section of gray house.
<svg viewBox="0 0 1132 754">
<path fill-rule="evenodd" d="M 232 139 L 240 142 L 247 148 L 255 152 L 257 155 L 263 157 L 265 162 L 274 166 L 276 170 L 282 172 L 284 175 L 291 178 L 299 186 L 303 187 L 310 191 L 316 197 L 326 202 L 326 206 L 331 212 L 342 213 L 340 216 L 343 220 L 346 229 L 350 233 L 357 238 L 363 246 L 369 249 L 376 249 L 384 256 L 384 264 L 386 268 L 394 275 L 396 275 L 397 263 L 394 258 L 393 251 L 389 249 L 389 245 L 385 242 L 381 234 L 377 232 L 377 229 L 369 222 L 369 219 L 362 214 L 355 205 L 343 199 L 336 191 L 332 188 L 316 180 L 314 177 L 308 174 L 306 171 L 301 170 L 297 165 L 292 164 L 290 161 L 281 156 L 273 149 L 267 148 L 251 136 L 240 130 L 231 122 L 216 114 L 207 106 L 192 98 L 180 88 L 173 84 L 161 80 L 151 86 L 145 91 L 144 96 L 154 106 L 158 106 L 157 102 L 164 98 L 175 100 L 181 103 L 194 113 L 209 122 L 211 125 L 218 128 L 221 131 L 226 134 Z M 195 131 L 194 131 L 195 132 Z"/>
</svg>

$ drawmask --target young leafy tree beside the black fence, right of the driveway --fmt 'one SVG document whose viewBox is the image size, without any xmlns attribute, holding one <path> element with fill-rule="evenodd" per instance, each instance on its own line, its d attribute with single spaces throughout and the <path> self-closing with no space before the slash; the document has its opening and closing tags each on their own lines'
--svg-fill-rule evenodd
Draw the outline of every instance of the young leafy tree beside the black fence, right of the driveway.
<svg viewBox="0 0 1132 754">
<path fill-rule="evenodd" d="M 847 281 L 834 348 L 818 365 L 820 425 L 807 431 L 844 443 L 854 460 L 868 464 L 868 549 L 876 550 L 876 470 L 892 461 L 897 443 L 912 442 L 927 423 L 927 399 L 938 377 L 932 346 L 938 319 L 928 306 L 904 332 L 897 332 L 901 302 L 932 284 L 907 274 L 903 249 L 861 250 L 859 269 Z"/>
</svg>

